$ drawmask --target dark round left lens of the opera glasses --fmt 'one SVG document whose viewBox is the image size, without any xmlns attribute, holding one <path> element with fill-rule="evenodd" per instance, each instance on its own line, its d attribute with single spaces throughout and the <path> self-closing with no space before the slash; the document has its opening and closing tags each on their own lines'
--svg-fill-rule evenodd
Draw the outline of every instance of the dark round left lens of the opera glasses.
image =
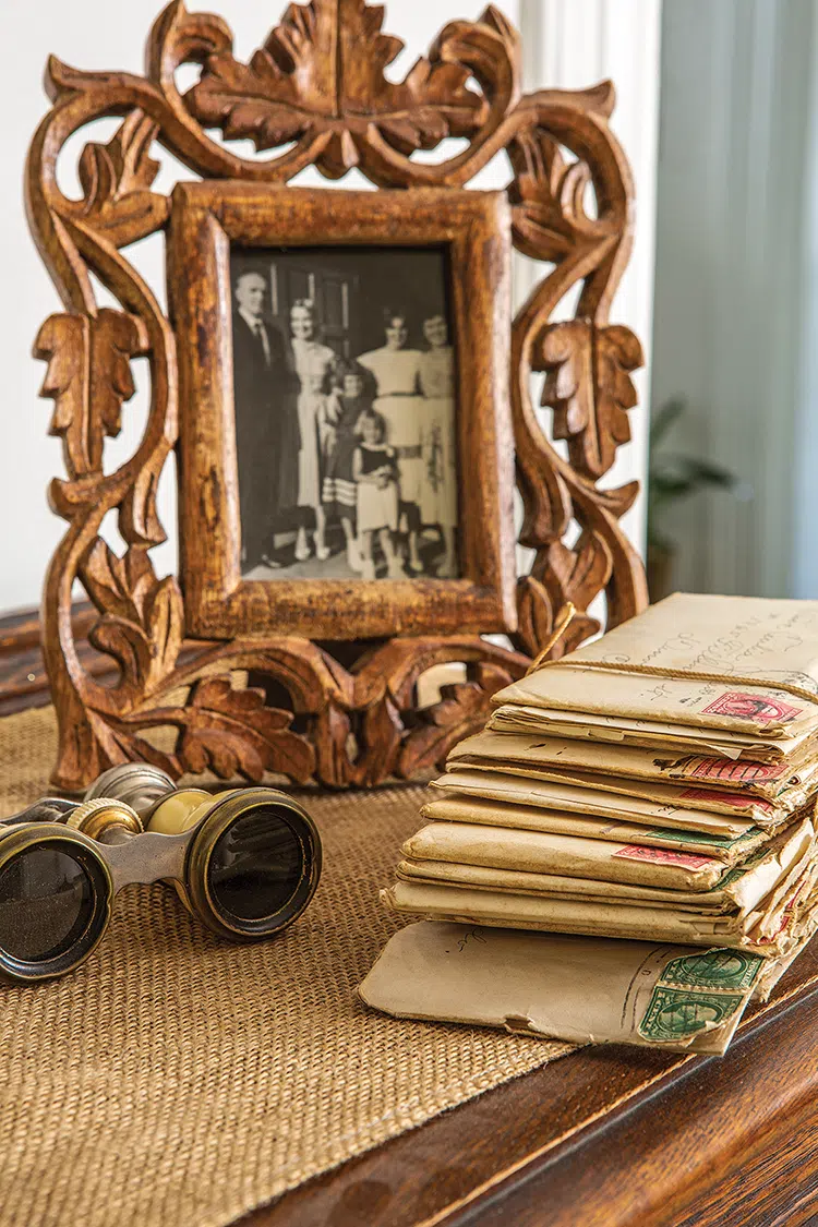
<svg viewBox="0 0 818 1227">
<path fill-rule="evenodd" d="M 82 936 L 92 914 L 91 879 L 65 852 L 31 848 L 0 871 L 0 947 L 12 958 L 56 958 Z"/>
</svg>

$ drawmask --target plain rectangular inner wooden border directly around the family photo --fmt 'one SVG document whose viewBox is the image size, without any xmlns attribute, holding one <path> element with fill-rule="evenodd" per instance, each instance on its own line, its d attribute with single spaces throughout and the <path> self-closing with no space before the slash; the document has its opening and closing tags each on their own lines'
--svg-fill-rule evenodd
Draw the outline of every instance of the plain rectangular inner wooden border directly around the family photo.
<svg viewBox="0 0 818 1227">
<path fill-rule="evenodd" d="M 180 394 L 180 578 L 188 633 L 377 639 L 516 628 L 504 193 L 180 184 L 168 299 Z M 460 578 L 243 579 L 231 358 L 231 248 L 430 247 L 450 270 Z"/>
</svg>

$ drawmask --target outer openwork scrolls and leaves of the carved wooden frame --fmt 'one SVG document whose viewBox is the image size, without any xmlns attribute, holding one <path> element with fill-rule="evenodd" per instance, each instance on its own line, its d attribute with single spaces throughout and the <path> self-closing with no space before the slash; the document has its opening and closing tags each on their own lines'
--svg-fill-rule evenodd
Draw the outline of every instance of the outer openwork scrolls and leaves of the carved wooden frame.
<svg viewBox="0 0 818 1227">
<path fill-rule="evenodd" d="M 482 724 L 491 694 L 527 667 L 563 601 L 581 614 L 556 650 L 598 628 L 586 612 L 598 594 L 608 626 L 646 602 L 641 561 L 618 523 L 638 483 L 600 485 L 629 438 L 630 372 L 641 364 L 636 337 L 608 324 L 633 226 L 630 174 L 608 128 L 613 90 L 521 96 L 519 39 L 493 7 L 476 22 L 446 25 L 428 55 L 391 81 L 384 70 L 401 43 L 381 23 L 383 9 L 364 0 L 292 4 L 243 64 L 220 17 L 173 0 L 153 26 L 143 77 L 49 61 L 53 108 L 33 139 L 26 189 L 32 232 L 65 304 L 34 351 L 48 361 L 43 395 L 55 402 L 52 433 L 63 438 L 66 466 L 50 487 L 69 526 L 42 615 L 60 726 L 54 782 L 65 789 L 129 758 L 174 774 L 210 768 L 259 779 L 273 771 L 334 787 L 410 777 L 434 768 Z M 182 94 L 177 70 L 185 63 L 201 65 L 201 76 Z M 58 187 L 58 156 L 101 117 L 121 121 L 108 144 L 86 144 L 82 196 L 71 200 Z M 206 129 L 220 129 L 227 144 Z M 412 157 L 449 136 L 465 147 L 438 162 Z M 243 137 L 280 152 L 240 157 L 229 142 Z M 156 490 L 178 437 L 175 336 L 124 254 L 169 223 L 169 198 L 152 190 L 155 142 L 205 179 L 286 184 L 308 166 L 330 179 L 357 167 L 379 188 L 440 193 L 467 185 L 505 151 L 514 245 L 546 266 L 510 336 L 519 540 L 533 550 L 530 573 L 518 580 L 511 648 L 473 633 L 418 634 L 350 656 L 288 634 L 186 640 L 182 650 L 183 594 L 175 577 L 156 575 L 150 556 L 164 540 Z M 120 309 L 98 304 L 92 274 Z M 574 318 L 552 321 L 579 283 Z M 139 356 L 151 371 L 147 422 L 132 456 L 105 471 L 104 440 L 119 431 Z M 567 458 L 542 428 L 532 372 L 545 372 L 542 404 L 553 409 L 552 433 L 567 440 Z M 110 510 L 121 557 L 99 535 Z M 72 639 L 76 579 L 99 612 L 90 638 L 119 665 L 112 687 L 83 669 Z M 444 661 L 464 661 L 467 680 L 417 710 L 418 677 Z M 240 674 L 248 686 L 237 685 Z M 157 729 L 169 729 L 172 741 L 159 747 Z"/>
</svg>

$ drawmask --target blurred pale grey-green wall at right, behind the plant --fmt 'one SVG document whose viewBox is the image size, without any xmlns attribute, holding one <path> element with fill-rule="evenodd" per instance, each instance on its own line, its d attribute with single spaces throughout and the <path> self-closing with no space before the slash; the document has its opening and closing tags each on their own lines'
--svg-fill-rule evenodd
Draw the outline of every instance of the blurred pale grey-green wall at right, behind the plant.
<svg viewBox="0 0 818 1227">
<path fill-rule="evenodd" d="M 668 525 L 688 590 L 818 595 L 806 544 L 814 555 L 818 389 L 814 373 L 811 398 L 800 378 L 814 350 L 803 227 L 816 11 L 665 4 L 652 399 L 688 400 L 668 445 L 726 466 L 744 493 L 699 494 Z"/>
</svg>

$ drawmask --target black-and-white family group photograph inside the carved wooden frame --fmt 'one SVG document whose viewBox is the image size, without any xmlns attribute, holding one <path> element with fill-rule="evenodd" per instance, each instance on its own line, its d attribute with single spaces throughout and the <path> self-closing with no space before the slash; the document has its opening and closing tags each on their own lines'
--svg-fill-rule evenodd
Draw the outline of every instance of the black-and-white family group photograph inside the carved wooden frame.
<svg viewBox="0 0 818 1227">
<path fill-rule="evenodd" d="M 451 578 L 455 355 L 434 249 L 237 249 L 242 575 Z"/>
</svg>

